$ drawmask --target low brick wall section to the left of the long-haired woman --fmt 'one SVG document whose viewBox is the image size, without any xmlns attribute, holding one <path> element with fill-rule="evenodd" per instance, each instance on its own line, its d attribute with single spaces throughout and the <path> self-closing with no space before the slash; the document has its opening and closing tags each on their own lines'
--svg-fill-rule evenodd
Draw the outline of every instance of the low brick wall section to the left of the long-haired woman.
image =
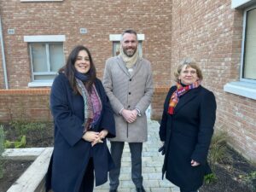
<svg viewBox="0 0 256 192">
<path fill-rule="evenodd" d="M 0 122 L 51 119 L 49 89 L 0 90 Z"/>
</svg>

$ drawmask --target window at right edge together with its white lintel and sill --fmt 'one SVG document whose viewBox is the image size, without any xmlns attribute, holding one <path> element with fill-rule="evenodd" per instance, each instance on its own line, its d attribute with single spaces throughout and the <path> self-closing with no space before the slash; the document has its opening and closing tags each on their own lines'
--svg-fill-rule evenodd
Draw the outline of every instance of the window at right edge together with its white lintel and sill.
<svg viewBox="0 0 256 192">
<path fill-rule="evenodd" d="M 240 81 L 225 84 L 224 91 L 256 100 L 256 4 L 232 0 L 232 8 L 244 10 Z"/>
</svg>

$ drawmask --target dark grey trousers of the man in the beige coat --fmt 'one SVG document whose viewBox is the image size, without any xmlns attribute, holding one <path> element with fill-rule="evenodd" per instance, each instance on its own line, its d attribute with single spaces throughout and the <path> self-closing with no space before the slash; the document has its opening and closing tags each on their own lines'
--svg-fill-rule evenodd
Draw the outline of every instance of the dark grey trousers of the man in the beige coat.
<svg viewBox="0 0 256 192">
<path fill-rule="evenodd" d="M 111 155 L 115 168 L 109 172 L 110 189 L 117 189 L 119 187 L 119 175 L 121 168 L 121 158 L 123 149 L 125 146 L 124 142 L 110 142 L 111 143 Z M 142 176 L 142 153 L 143 143 L 129 143 L 131 151 L 131 180 L 135 186 L 143 186 Z"/>
</svg>

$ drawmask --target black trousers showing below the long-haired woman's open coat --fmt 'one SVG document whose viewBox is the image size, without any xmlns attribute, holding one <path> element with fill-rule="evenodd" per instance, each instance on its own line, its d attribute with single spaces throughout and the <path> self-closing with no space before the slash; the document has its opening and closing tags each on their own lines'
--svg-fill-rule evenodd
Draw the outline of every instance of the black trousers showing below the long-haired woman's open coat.
<svg viewBox="0 0 256 192">
<path fill-rule="evenodd" d="M 84 173 L 83 181 L 81 183 L 79 192 L 93 192 L 94 187 L 94 166 L 93 160 L 90 158 L 86 171 Z"/>
</svg>

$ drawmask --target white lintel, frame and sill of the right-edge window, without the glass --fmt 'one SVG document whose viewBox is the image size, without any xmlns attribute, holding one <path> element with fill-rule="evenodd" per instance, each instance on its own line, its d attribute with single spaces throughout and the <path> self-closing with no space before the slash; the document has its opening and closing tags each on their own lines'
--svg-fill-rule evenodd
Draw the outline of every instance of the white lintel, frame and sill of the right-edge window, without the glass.
<svg viewBox="0 0 256 192">
<path fill-rule="evenodd" d="M 252 5 L 253 4 L 253 5 Z M 250 7 L 248 7 L 250 5 Z M 246 7 L 246 9 L 244 9 Z M 244 9 L 243 15 L 243 32 L 242 32 L 242 44 L 241 44 L 241 68 L 240 68 L 240 81 L 229 82 L 224 84 L 224 91 L 236 94 L 238 96 L 245 96 L 250 99 L 256 100 L 256 80 L 242 78 L 243 70 L 243 59 L 244 59 L 244 45 L 246 35 L 246 24 L 247 24 L 247 11 L 256 7 L 256 1 L 232 1 L 232 8 Z"/>
</svg>

